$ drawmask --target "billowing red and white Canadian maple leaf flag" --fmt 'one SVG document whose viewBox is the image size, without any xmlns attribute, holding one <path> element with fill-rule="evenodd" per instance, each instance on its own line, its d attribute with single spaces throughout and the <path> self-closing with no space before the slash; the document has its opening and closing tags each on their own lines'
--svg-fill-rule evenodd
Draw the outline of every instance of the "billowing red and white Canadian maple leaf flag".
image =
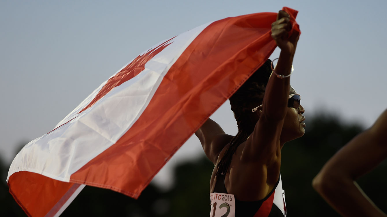
<svg viewBox="0 0 387 217">
<path fill-rule="evenodd" d="M 284 8 L 293 20 L 297 11 Z M 133 198 L 270 56 L 277 13 L 229 17 L 164 40 L 111 76 L 9 169 L 29 216 L 58 216 L 85 185 Z"/>
</svg>

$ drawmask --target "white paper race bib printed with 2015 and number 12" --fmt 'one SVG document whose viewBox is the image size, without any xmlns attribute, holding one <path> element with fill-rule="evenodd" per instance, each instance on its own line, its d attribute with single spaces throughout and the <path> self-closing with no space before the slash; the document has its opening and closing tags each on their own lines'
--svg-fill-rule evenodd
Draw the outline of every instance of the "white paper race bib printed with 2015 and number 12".
<svg viewBox="0 0 387 217">
<path fill-rule="evenodd" d="M 228 193 L 210 193 L 210 217 L 235 217 L 235 197 Z"/>
</svg>

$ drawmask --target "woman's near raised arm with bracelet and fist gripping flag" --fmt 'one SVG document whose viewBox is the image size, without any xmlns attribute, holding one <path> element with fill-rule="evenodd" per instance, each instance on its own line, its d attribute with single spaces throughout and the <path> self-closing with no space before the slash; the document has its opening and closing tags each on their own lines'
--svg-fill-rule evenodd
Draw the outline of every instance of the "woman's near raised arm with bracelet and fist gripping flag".
<svg viewBox="0 0 387 217">
<path fill-rule="evenodd" d="M 279 137 L 287 113 L 290 77 L 279 78 L 276 74 L 287 76 L 291 72 L 299 38 L 297 31 L 288 37 L 291 27 L 289 15 L 279 11 L 277 21 L 272 24 L 272 37 L 281 48 L 281 53 L 275 73 L 271 74 L 267 83 L 262 109 L 257 111 L 259 121 L 243 149 L 243 161 L 272 161 L 280 147 Z"/>
</svg>

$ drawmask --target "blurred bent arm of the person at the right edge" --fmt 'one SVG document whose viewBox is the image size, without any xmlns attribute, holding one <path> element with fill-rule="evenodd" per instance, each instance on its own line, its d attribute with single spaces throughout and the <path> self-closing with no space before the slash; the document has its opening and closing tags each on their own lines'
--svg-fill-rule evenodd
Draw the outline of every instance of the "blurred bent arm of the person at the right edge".
<svg viewBox="0 0 387 217">
<path fill-rule="evenodd" d="M 387 157 L 387 110 L 324 165 L 313 188 L 341 215 L 386 217 L 354 181 Z"/>
</svg>

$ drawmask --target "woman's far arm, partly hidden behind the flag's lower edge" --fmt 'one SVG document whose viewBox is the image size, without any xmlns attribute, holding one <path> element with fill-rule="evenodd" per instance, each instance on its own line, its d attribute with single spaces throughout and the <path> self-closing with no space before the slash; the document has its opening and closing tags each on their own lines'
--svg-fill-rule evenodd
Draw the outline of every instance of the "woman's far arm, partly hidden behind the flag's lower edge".
<svg viewBox="0 0 387 217">
<path fill-rule="evenodd" d="M 214 165 L 219 152 L 233 138 L 233 136 L 225 134 L 219 124 L 210 118 L 195 132 L 195 135 L 202 143 L 205 155 Z"/>
</svg>

